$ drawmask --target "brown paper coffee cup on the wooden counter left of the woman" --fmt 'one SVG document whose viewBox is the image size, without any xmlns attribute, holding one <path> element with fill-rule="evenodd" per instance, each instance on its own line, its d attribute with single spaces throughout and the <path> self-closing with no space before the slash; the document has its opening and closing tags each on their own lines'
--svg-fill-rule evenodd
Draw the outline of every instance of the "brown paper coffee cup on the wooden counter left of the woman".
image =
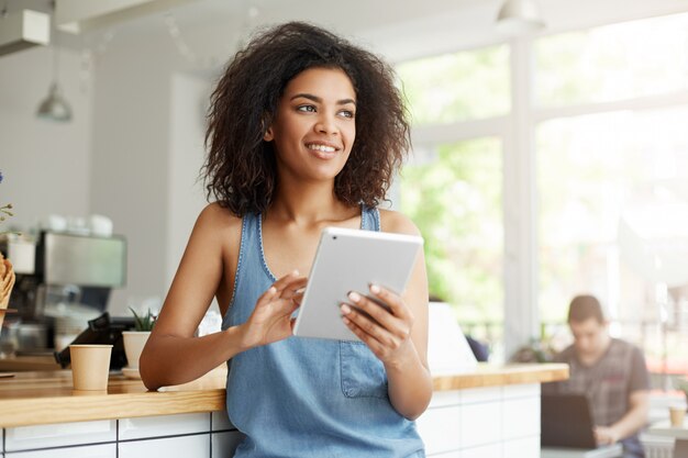
<svg viewBox="0 0 688 458">
<path fill-rule="evenodd" d="M 75 390 L 108 389 L 112 345 L 69 345 Z"/>
</svg>

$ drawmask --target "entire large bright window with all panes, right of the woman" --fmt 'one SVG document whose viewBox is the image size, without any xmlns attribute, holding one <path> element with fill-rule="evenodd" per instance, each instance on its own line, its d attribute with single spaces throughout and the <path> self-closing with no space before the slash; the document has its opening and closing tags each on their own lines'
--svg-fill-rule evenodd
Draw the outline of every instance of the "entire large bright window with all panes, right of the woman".
<svg viewBox="0 0 688 458">
<path fill-rule="evenodd" d="M 510 345 L 535 316 L 565 332 L 591 292 L 651 364 L 688 370 L 688 13 L 520 43 L 398 66 L 415 148 L 401 209 L 431 292 L 464 325 L 514 317 Z"/>
</svg>

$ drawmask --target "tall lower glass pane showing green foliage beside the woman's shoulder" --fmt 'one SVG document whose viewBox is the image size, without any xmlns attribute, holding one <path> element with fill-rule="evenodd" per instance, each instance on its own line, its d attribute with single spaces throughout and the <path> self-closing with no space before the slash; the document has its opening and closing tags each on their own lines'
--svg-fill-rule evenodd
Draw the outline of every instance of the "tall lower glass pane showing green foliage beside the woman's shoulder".
<svg viewBox="0 0 688 458">
<path fill-rule="evenodd" d="M 501 144 L 473 139 L 432 155 L 403 168 L 401 211 L 425 238 L 431 294 L 454 305 L 464 331 L 495 343 L 503 321 Z"/>
</svg>

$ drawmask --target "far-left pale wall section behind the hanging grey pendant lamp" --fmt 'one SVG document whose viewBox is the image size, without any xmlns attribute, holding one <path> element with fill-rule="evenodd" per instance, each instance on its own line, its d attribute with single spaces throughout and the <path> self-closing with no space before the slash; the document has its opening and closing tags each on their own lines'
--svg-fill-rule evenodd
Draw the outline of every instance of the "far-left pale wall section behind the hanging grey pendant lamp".
<svg viewBox="0 0 688 458">
<path fill-rule="evenodd" d="M 49 213 L 91 211 L 91 97 L 89 83 L 79 80 L 78 53 L 60 51 L 59 82 L 74 120 L 60 124 L 35 116 L 52 80 L 52 52 L 34 47 L 0 57 L 0 203 L 15 208 L 2 228 L 25 230 Z"/>
</svg>

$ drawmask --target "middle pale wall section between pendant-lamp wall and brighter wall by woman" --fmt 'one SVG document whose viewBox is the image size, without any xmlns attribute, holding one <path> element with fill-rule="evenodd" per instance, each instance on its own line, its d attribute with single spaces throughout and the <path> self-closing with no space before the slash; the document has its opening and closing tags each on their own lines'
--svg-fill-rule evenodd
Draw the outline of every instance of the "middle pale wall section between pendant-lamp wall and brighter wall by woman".
<svg viewBox="0 0 688 458">
<path fill-rule="evenodd" d="M 113 315 L 166 287 L 170 76 L 156 54 L 112 43 L 95 67 L 91 202 L 129 247 L 127 284 L 113 292 Z"/>
</svg>

